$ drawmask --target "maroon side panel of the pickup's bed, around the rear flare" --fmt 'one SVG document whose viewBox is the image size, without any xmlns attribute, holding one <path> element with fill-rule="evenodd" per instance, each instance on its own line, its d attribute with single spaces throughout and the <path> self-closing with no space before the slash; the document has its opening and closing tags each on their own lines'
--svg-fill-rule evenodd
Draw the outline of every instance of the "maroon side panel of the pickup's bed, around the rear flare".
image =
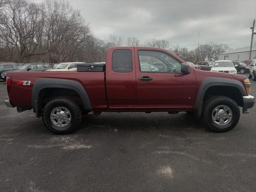
<svg viewBox="0 0 256 192">
<path fill-rule="evenodd" d="M 9 97 L 14 106 L 32 108 L 32 87 L 40 78 L 74 80 L 86 90 L 93 110 L 106 110 L 106 92 L 104 72 L 8 72 L 12 78 Z M 30 85 L 21 86 L 20 82 L 31 81 Z M 18 96 L 17 96 L 18 95 Z M 22 102 L 20 102 L 22 100 Z"/>
</svg>

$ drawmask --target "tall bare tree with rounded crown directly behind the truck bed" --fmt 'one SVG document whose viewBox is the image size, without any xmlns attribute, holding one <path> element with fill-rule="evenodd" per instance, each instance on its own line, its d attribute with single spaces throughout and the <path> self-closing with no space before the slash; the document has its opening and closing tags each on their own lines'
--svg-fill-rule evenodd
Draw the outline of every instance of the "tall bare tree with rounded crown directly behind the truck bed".
<svg viewBox="0 0 256 192">
<path fill-rule="evenodd" d="M 42 9 L 45 18 L 44 44 L 50 60 L 78 60 L 77 50 L 92 36 L 80 11 L 73 10 L 69 2 L 57 0 L 46 0 L 42 3 Z M 60 51 L 60 48 L 64 50 Z M 56 57 L 56 54 L 59 56 Z"/>
</svg>

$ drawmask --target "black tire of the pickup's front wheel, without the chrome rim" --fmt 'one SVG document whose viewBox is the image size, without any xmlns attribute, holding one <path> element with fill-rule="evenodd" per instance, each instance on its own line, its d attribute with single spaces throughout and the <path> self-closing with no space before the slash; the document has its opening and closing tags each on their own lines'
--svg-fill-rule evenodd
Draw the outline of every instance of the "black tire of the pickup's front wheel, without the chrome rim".
<svg viewBox="0 0 256 192">
<path fill-rule="evenodd" d="M 212 111 L 214 108 L 220 105 L 228 106 L 232 111 L 232 118 L 228 124 L 220 126 L 214 123 L 212 120 Z M 202 120 L 206 128 L 213 132 L 227 132 L 232 130 L 238 123 L 240 118 L 240 109 L 236 102 L 226 96 L 212 96 L 208 98 L 203 106 Z"/>
</svg>

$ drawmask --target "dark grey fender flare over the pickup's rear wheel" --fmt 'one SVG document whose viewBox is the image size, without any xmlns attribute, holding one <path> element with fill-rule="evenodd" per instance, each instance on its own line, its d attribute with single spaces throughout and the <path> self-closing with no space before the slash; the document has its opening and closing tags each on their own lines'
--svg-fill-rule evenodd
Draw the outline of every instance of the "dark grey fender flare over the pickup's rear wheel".
<svg viewBox="0 0 256 192">
<path fill-rule="evenodd" d="M 32 88 L 32 99 L 31 99 L 32 108 L 34 109 L 34 112 L 36 112 L 37 117 L 40 116 L 38 114 L 38 110 L 41 110 L 39 107 L 40 104 L 38 103 L 38 96 L 40 91 L 44 88 L 66 88 L 66 89 L 74 90 L 80 96 L 84 105 L 84 110 L 88 112 L 92 111 L 90 99 L 81 83 L 74 80 L 66 80 L 66 79 L 40 78 L 34 82 L 34 85 Z"/>
</svg>

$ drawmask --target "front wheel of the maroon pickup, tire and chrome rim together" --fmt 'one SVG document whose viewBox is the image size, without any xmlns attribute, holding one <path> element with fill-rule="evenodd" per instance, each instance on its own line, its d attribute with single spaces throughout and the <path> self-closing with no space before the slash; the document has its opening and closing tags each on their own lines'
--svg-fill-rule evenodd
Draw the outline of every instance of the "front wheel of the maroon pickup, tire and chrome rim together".
<svg viewBox="0 0 256 192">
<path fill-rule="evenodd" d="M 240 118 L 240 110 L 234 100 L 226 96 L 214 96 L 206 100 L 202 119 L 214 132 L 227 132 L 234 128 Z"/>
</svg>

